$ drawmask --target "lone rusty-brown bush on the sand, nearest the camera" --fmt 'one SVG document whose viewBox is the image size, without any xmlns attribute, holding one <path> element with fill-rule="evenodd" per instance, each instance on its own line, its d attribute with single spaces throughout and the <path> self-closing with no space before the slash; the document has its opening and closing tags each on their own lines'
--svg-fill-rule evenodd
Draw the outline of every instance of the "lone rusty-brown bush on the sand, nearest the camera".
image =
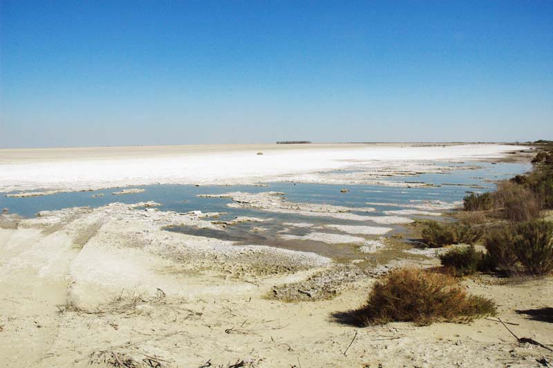
<svg viewBox="0 0 553 368">
<path fill-rule="evenodd" d="M 375 284 L 366 306 L 355 311 L 355 318 L 364 326 L 388 322 L 431 324 L 464 322 L 495 313 L 493 301 L 467 295 L 449 275 L 403 269 L 392 271 Z"/>
</svg>

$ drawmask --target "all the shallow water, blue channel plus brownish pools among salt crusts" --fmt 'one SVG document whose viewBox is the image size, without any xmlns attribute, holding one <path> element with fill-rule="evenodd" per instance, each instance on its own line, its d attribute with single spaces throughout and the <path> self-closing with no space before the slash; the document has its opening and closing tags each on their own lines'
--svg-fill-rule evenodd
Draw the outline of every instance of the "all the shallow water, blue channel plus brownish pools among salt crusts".
<svg viewBox="0 0 553 368">
<path fill-rule="evenodd" d="M 444 165 L 440 163 L 440 165 Z M 48 196 L 34 196 L 28 198 L 12 198 L 1 196 L 0 208 L 8 208 L 10 213 L 16 213 L 23 217 L 32 217 L 41 210 L 61 210 L 63 208 L 90 206 L 100 207 L 113 202 L 138 203 L 141 201 L 155 201 L 161 203 L 158 207 L 163 211 L 189 212 L 200 210 L 202 212 L 225 212 L 217 220 L 228 221 L 238 216 L 260 217 L 271 219 L 264 222 L 238 223 L 227 226 L 225 230 L 207 230 L 190 227 L 167 228 L 170 231 L 185 232 L 205 237 L 215 237 L 223 240 L 236 241 L 238 244 L 258 244 L 276 246 L 292 250 L 313 251 L 330 257 L 353 258 L 359 257 L 355 246 L 351 244 L 327 244 L 321 241 L 310 240 L 285 240 L 280 234 L 304 235 L 309 232 L 333 232 L 317 228 L 326 224 L 346 224 L 356 226 L 377 226 L 393 228 L 387 235 L 401 231 L 397 225 L 382 225 L 373 221 L 351 221 L 334 219 L 332 217 L 312 217 L 301 214 L 287 214 L 267 212 L 263 210 L 250 210 L 240 208 L 228 208 L 231 203 L 229 198 L 200 198 L 198 194 L 223 194 L 227 192 L 284 192 L 284 198 L 291 202 L 324 203 L 330 205 L 342 205 L 353 208 L 352 213 L 366 216 L 385 216 L 384 211 L 406 209 L 403 205 L 412 205 L 414 201 L 462 201 L 467 192 L 487 192 L 495 188 L 495 181 L 509 178 L 516 174 L 523 174 L 531 169 L 529 164 L 520 163 L 470 163 L 451 164 L 454 166 L 467 166 L 467 169 L 457 169 L 447 174 L 420 174 L 418 176 L 395 176 L 389 181 L 424 182 L 431 184 L 429 187 L 392 187 L 384 185 L 332 185 L 332 184 L 301 184 L 301 183 L 269 183 L 268 187 L 255 185 L 232 186 L 194 186 L 194 185 L 145 185 L 140 186 L 145 191 L 136 194 L 113 195 L 121 189 L 95 190 L 89 192 L 69 192 L 52 194 Z M 475 168 L 476 167 L 476 168 Z M 337 172 L 340 174 L 343 172 Z M 341 193 L 341 188 L 346 187 L 349 192 Z M 97 196 L 104 194 L 103 196 Z M 93 197 L 94 196 L 94 197 Z M 366 204 L 378 203 L 378 204 Z M 373 212 L 364 212 L 361 208 L 375 208 Z M 359 208 L 359 211 L 355 211 Z M 444 211 L 442 211 L 444 212 Z M 427 218 L 421 215 L 401 215 L 402 217 Z M 209 220 L 209 219 L 208 219 Z M 312 223 L 311 228 L 295 228 L 284 223 Z M 261 229 L 260 229 L 261 228 Z M 377 237 L 367 235 L 355 235 L 371 239 Z"/>
</svg>

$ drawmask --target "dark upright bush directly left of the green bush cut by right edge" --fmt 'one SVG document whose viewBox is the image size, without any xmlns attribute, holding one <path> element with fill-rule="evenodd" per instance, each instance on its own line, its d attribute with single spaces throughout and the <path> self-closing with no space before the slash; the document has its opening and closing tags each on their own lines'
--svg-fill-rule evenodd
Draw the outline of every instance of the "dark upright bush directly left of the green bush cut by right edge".
<svg viewBox="0 0 553 368">
<path fill-rule="evenodd" d="M 482 268 L 500 270 L 507 274 L 516 271 L 518 258 L 514 252 L 514 230 L 510 226 L 491 228 L 484 237 L 487 254 L 482 260 Z"/>
</svg>

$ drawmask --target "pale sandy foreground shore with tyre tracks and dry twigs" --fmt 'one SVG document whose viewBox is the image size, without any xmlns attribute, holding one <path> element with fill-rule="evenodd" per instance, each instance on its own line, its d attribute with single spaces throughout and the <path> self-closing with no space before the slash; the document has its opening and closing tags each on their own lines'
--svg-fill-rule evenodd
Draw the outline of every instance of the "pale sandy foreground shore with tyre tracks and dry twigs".
<svg viewBox="0 0 553 368">
<path fill-rule="evenodd" d="M 148 357 L 165 367 L 539 367 L 537 360 L 552 358 L 516 343 L 495 318 L 364 329 L 333 320 L 332 313 L 364 303 L 384 266 L 362 270 L 162 230 L 199 221 L 209 223 L 118 203 L 3 216 L 0 360 L 6 367 L 116 367 L 130 359 L 140 365 L 129 367 L 150 367 Z M 388 266 L 406 264 L 437 261 Z M 464 284 L 494 298 L 519 337 L 553 344 L 550 315 L 516 312 L 550 306 L 551 278 L 482 276 Z M 311 301 L 274 297 L 290 290 Z"/>
</svg>

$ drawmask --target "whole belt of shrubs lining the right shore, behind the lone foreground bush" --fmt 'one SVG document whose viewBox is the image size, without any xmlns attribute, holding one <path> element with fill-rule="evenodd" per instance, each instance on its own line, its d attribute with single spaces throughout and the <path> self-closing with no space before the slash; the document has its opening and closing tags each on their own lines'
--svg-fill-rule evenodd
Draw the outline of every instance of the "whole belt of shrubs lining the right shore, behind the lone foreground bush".
<svg viewBox="0 0 553 368">
<path fill-rule="evenodd" d="M 539 220 L 544 210 L 553 209 L 553 142 L 537 141 L 541 146 L 532 160 L 534 171 L 516 175 L 498 183 L 495 192 L 465 196 L 464 212 L 458 217 L 468 230 L 428 226 L 423 239 L 429 246 L 448 245 L 453 234 L 458 242 L 474 243 L 482 234 L 470 229 L 485 230 L 477 269 L 494 270 L 506 275 L 549 275 L 553 272 L 553 223 Z M 472 227 L 470 227 L 472 226 Z M 461 227 L 459 227 L 462 229 Z M 441 236 L 440 236 L 441 235 Z M 463 239 L 465 237 L 465 239 Z M 446 241 L 447 240 L 447 241 Z M 462 241 L 461 241 L 462 240 Z M 451 250 L 440 259 L 456 274 L 475 272 L 476 250 Z"/>
</svg>

